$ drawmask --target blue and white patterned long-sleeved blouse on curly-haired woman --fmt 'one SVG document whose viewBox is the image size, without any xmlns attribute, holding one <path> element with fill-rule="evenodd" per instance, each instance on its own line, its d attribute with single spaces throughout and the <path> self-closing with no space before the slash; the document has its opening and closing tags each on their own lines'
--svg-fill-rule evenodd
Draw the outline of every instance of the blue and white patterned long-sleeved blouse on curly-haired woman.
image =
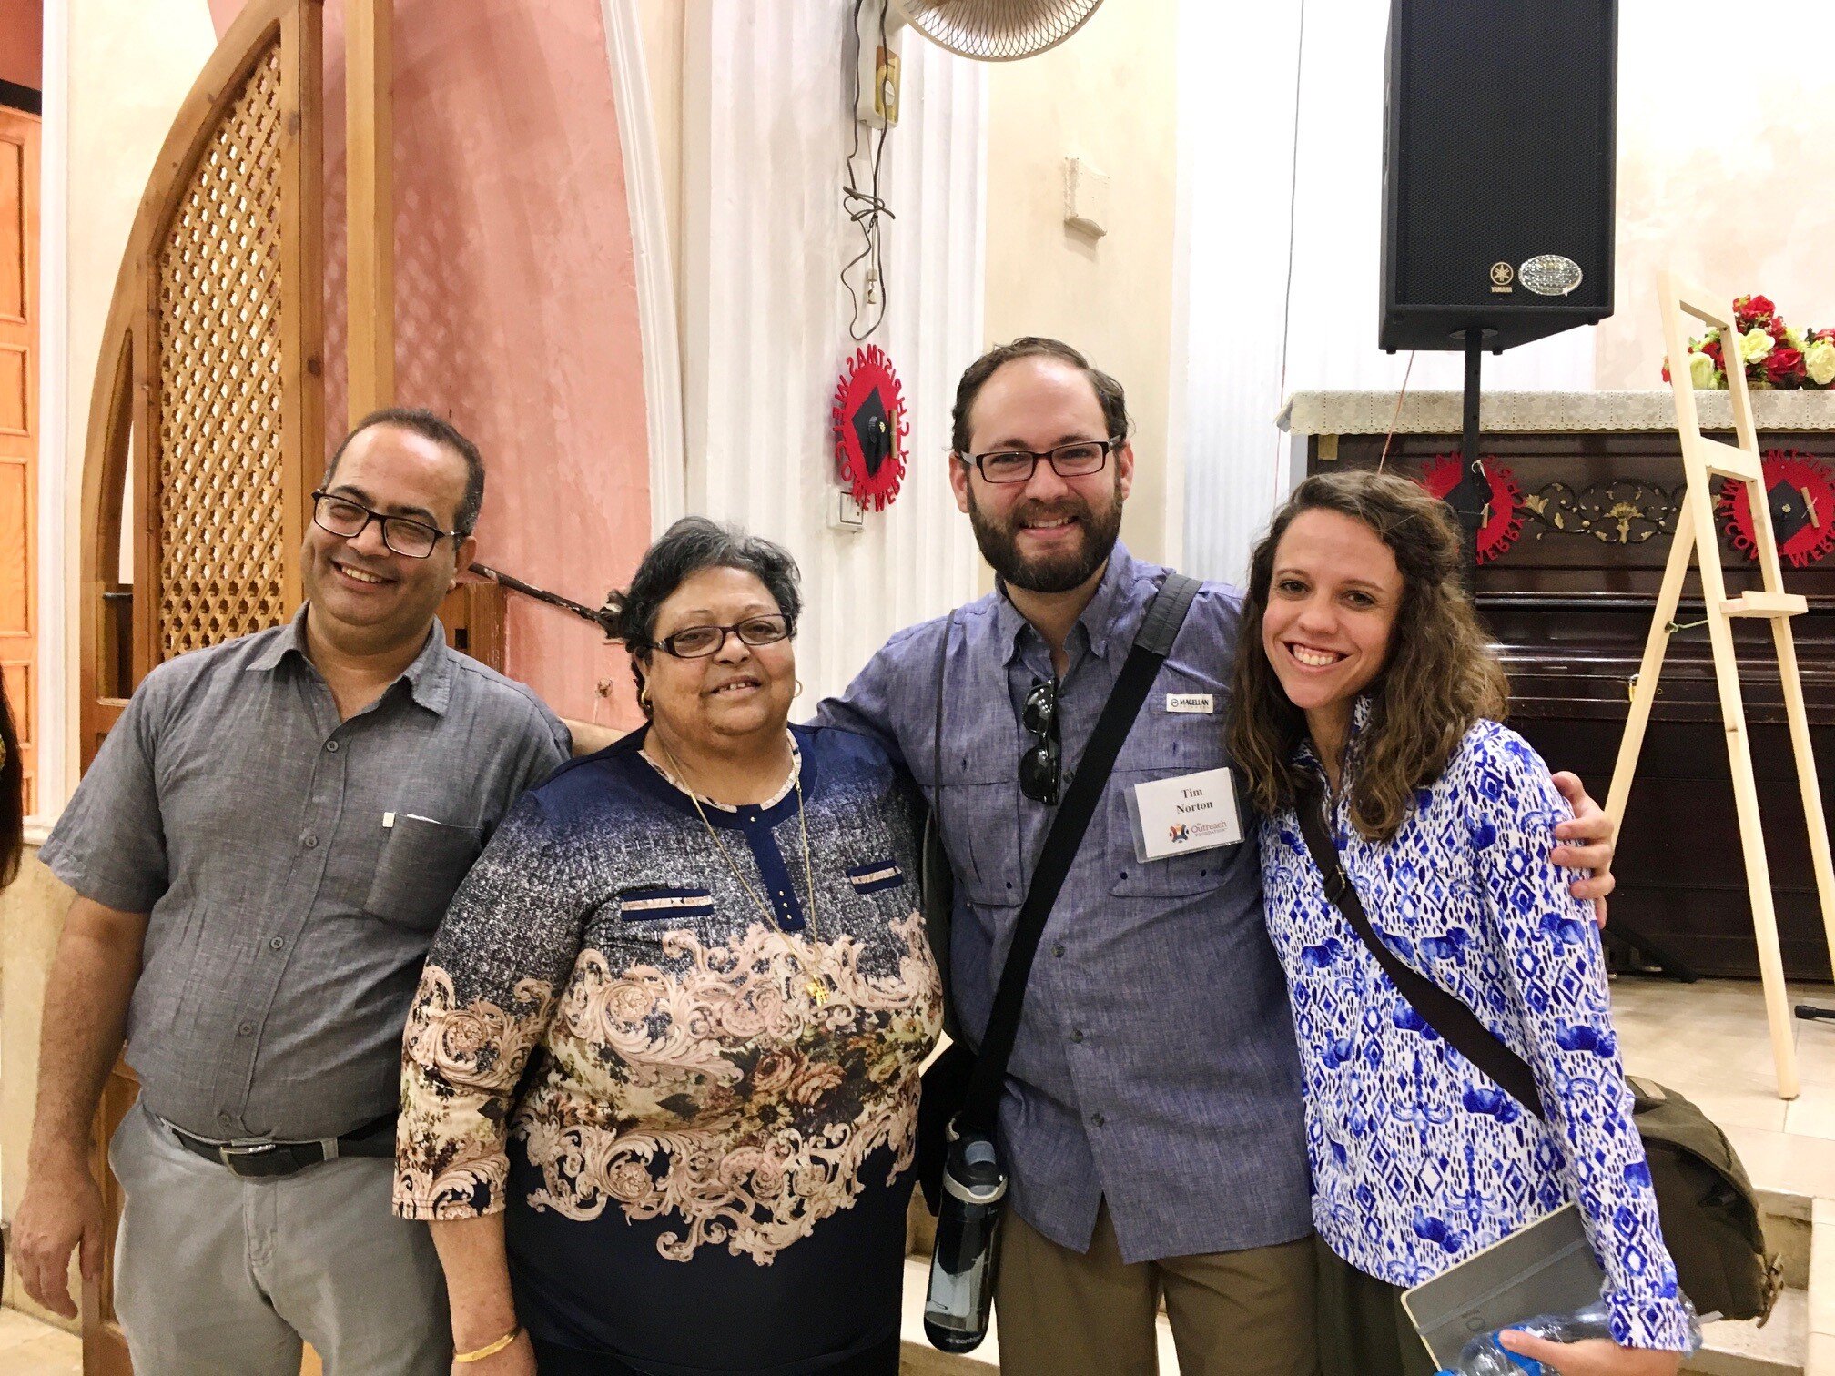
<svg viewBox="0 0 1835 1376">
<path fill-rule="evenodd" d="M 1681 1350 L 1688 1317 L 1631 1123 L 1598 928 L 1549 859 L 1567 816 L 1541 758 L 1496 721 L 1466 732 L 1395 838 L 1362 837 L 1343 802 L 1332 816 L 1384 941 L 1529 1062 L 1547 1123 L 1396 993 L 1327 903 L 1294 811 L 1262 822 L 1268 932 L 1307 1077 L 1314 1224 L 1360 1271 L 1413 1286 L 1578 1200 L 1617 1339 Z"/>
</svg>

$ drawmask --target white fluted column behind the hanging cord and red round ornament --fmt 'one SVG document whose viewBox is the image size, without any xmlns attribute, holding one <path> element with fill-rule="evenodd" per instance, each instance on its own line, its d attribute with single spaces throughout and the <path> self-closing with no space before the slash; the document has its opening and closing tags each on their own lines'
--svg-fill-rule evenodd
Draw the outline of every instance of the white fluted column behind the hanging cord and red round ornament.
<svg viewBox="0 0 1835 1376">
<path fill-rule="evenodd" d="M 905 35 L 903 117 L 881 169 L 890 352 L 912 416 L 905 490 L 864 534 L 824 523 L 828 416 L 853 352 L 837 273 L 851 0 L 692 6 L 683 84 L 686 503 L 789 547 L 804 571 L 798 710 L 901 626 L 974 594 L 949 494 L 949 405 L 982 345 L 984 75 Z"/>
</svg>

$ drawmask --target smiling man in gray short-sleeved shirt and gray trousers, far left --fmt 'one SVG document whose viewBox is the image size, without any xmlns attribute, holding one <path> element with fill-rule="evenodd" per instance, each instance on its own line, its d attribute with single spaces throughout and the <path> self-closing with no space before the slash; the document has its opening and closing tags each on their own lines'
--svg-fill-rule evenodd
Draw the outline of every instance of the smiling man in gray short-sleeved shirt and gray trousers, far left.
<svg viewBox="0 0 1835 1376">
<path fill-rule="evenodd" d="M 451 1356 L 428 1233 L 389 1209 L 402 1024 L 448 899 L 569 741 L 435 620 L 475 545 L 475 448 L 380 413 L 325 488 L 294 622 L 149 673 L 42 849 L 79 897 L 20 1270 L 64 1314 L 73 1244 L 94 1275 L 88 1126 L 125 1031 L 116 1310 L 141 1376 L 290 1374 L 301 1339 L 334 1376 Z"/>
</svg>

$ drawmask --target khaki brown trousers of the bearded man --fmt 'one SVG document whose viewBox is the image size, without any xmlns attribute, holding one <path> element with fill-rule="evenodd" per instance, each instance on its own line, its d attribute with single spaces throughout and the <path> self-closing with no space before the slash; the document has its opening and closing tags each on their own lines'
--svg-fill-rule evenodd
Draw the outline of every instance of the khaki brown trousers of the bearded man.
<svg viewBox="0 0 1835 1376">
<path fill-rule="evenodd" d="M 1000 1224 L 1002 1376 L 1154 1376 L 1162 1295 L 1180 1376 L 1316 1376 L 1312 1238 L 1206 1257 L 1121 1260 L 1105 1204 L 1086 1253 L 1017 1213 Z"/>
</svg>

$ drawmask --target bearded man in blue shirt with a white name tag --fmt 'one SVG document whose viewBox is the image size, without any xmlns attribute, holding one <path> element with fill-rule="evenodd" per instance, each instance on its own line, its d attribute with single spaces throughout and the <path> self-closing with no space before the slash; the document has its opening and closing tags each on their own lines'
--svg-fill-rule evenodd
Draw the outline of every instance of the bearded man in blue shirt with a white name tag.
<svg viewBox="0 0 1835 1376">
<path fill-rule="evenodd" d="M 1127 426 L 1121 387 L 1062 343 L 973 363 L 951 477 L 1000 589 L 892 637 L 822 705 L 884 739 L 941 813 L 951 996 L 974 1040 L 1053 816 L 1020 783 L 1026 697 L 1055 684 L 1068 778 L 1167 574 L 1116 541 Z M 1154 1370 L 1160 1299 L 1187 1376 L 1316 1367 L 1299 1060 L 1255 846 L 1141 862 L 1129 820 L 1134 785 L 1229 763 L 1239 607 L 1217 583 L 1193 602 L 1031 969 L 1000 1114 L 1009 1374 Z"/>
</svg>

